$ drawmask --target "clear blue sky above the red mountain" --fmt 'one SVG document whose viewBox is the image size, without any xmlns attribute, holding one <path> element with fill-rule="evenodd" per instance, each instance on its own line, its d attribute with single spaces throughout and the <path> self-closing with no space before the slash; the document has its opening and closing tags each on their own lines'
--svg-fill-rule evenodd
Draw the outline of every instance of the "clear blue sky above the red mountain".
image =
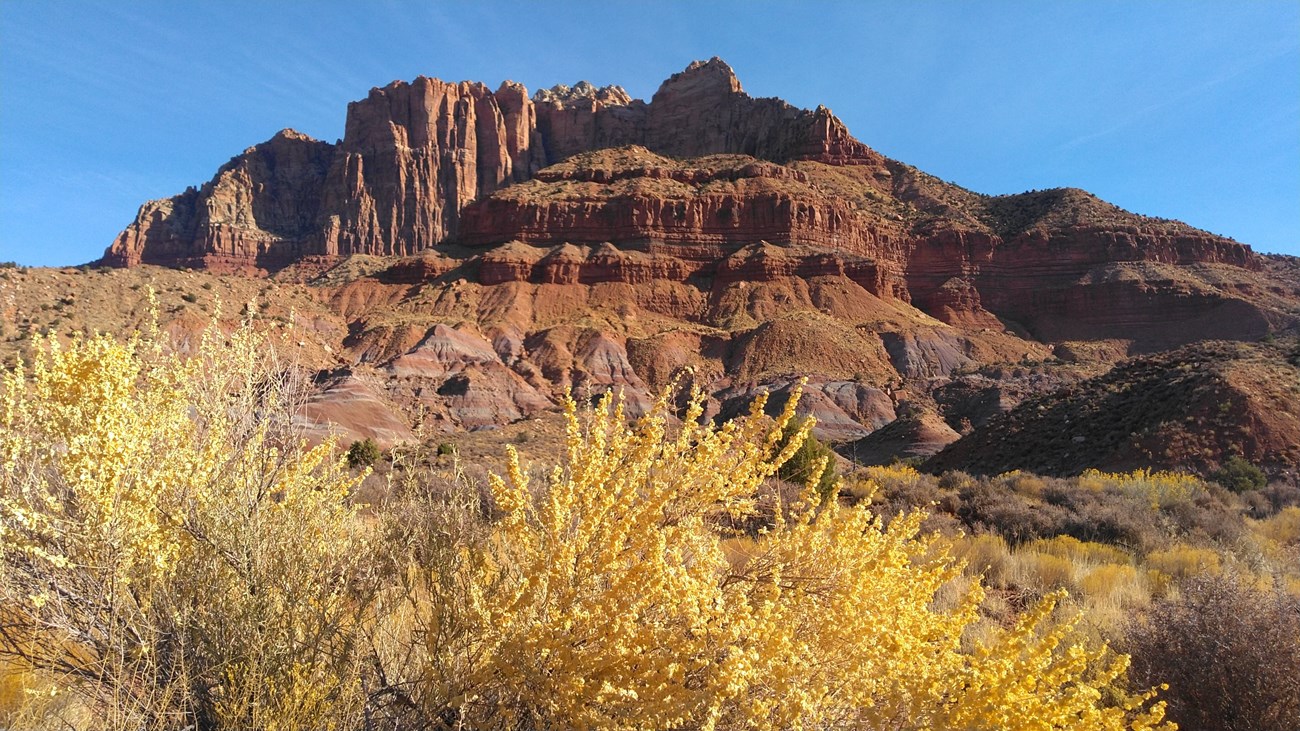
<svg viewBox="0 0 1300 731">
<path fill-rule="evenodd" d="M 0 261 L 96 259 L 140 203 L 394 79 L 649 99 L 722 56 L 968 189 L 1076 186 L 1300 255 L 1300 1 L 0 0 Z"/>
</svg>

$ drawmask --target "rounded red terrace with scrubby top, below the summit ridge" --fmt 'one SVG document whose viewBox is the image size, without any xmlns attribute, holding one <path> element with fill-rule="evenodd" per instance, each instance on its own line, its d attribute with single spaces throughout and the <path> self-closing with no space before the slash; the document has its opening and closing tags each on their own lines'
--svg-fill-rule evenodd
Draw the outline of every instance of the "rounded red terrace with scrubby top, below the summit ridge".
<svg viewBox="0 0 1300 731">
<path fill-rule="evenodd" d="M 581 155 L 465 208 L 459 241 L 660 242 L 716 258 L 760 241 L 875 255 L 890 237 L 902 233 L 871 225 L 798 170 L 749 156 L 684 164 L 625 147 Z"/>
</svg>

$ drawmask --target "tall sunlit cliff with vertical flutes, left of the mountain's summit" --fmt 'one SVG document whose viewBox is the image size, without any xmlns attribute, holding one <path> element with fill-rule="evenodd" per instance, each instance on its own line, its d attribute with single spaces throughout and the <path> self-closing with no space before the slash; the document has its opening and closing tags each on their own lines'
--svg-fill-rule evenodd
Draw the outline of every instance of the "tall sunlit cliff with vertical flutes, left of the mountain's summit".
<svg viewBox="0 0 1300 731">
<path fill-rule="evenodd" d="M 541 165 L 536 117 L 519 85 L 417 78 L 348 105 L 343 142 L 324 181 L 326 256 L 408 255 L 455 237 L 460 209 Z"/>
</svg>

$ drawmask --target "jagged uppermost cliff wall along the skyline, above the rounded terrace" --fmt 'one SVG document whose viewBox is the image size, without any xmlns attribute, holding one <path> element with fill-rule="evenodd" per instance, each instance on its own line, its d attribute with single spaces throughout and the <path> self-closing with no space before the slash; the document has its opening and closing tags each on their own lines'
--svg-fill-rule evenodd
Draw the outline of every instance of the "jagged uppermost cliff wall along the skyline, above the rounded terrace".
<svg viewBox="0 0 1300 731">
<path fill-rule="evenodd" d="M 491 91 L 420 77 L 350 104 L 338 146 L 286 130 L 202 189 L 146 204 L 104 263 L 256 272 L 313 256 L 410 255 L 456 239 L 474 200 L 569 156 L 628 144 L 883 164 L 823 108 L 751 99 L 718 59 L 666 81 L 650 104 L 585 83 L 529 99 L 512 82 Z"/>
</svg>

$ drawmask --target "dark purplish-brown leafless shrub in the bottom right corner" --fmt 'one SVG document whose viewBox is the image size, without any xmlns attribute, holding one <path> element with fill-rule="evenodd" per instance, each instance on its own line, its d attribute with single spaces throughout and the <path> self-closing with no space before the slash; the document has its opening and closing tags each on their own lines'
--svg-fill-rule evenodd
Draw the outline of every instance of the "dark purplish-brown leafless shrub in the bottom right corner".
<svg viewBox="0 0 1300 731">
<path fill-rule="evenodd" d="M 1196 576 L 1128 628 L 1134 676 L 1167 683 L 1186 731 L 1300 728 L 1300 598 Z"/>
</svg>

